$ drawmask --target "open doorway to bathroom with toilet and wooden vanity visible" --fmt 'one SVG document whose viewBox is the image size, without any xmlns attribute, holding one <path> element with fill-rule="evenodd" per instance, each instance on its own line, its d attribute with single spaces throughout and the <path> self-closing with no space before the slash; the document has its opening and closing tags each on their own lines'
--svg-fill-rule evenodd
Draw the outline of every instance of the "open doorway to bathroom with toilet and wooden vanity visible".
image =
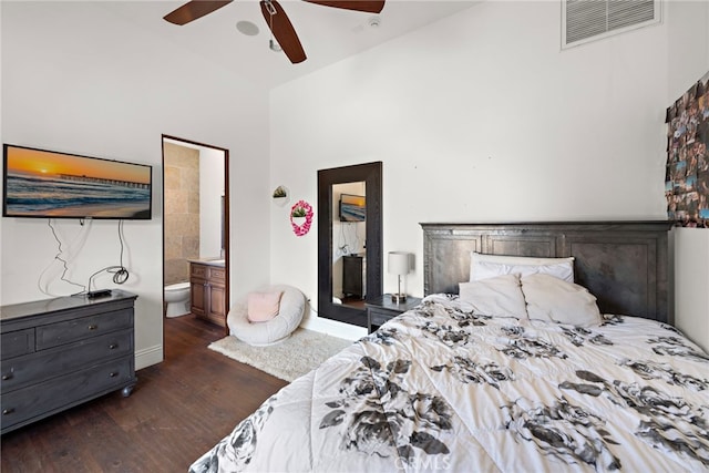
<svg viewBox="0 0 709 473">
<path fill-rule="evenodd" d="M 188 316 L 226 327 L 228 150 L 162 140 L 164 320 Z"/>
</svg>

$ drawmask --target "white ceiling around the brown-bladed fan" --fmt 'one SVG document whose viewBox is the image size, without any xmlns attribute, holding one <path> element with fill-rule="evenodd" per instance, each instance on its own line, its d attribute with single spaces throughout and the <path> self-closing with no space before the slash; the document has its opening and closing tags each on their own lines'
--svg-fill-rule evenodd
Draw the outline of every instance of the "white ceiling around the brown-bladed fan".
<svg viewBox="0 0 709 473">
<path fill-rule="evenodd" d="M 301 0 L 279 0 L 298 32 L 308 59 L 291 64 L 282 52 L 268 48 L 270 30 L 258 0 L 236 0 L 198 20 L 178 27 L 163 17 L 185 1 L 100 2 L 131 22 L 223 66 L 237 71 L 267 88 L 373 48 L 409 31 L 467 9 L 479 1 L 387 0 L 379 14 L 322 7 Z M 371 27 L 373 17 L 379 27 Z M 246 35 L 238 21 L 250 21 L 259 29 Z"/>
</svg>

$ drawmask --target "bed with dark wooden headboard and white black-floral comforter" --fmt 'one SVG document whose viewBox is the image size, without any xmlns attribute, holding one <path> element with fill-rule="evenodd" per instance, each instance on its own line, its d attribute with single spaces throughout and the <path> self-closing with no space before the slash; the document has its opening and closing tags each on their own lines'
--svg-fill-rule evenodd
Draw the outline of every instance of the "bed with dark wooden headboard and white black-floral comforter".
<svg viewBox="0 0 709 473">
<path fill-rule="evenodd" d="M 422 228 L 422 304 L 191 472 L 709 470 L 709 357 L 671 325 L 667 222 Z"/>
</svg>

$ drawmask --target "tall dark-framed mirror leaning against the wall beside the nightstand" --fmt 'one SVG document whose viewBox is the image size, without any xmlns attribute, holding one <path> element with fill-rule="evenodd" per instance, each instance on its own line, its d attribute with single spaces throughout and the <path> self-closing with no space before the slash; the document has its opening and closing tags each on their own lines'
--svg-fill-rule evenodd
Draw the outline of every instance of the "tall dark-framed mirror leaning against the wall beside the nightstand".
<svg viewBox="0 0 709 473">
<path fill-rule="evenodd" d="M 318 315 L 367 327 L 381 296 L 382 163 L 318 171 Z"/>
</svg>

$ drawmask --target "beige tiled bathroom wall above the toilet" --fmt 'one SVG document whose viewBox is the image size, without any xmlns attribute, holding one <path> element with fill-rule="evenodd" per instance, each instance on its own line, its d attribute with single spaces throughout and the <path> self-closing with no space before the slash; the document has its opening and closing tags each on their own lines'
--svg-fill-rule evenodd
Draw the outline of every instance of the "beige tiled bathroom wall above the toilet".
<svg viewBox="0 0 709 473">
<path fill-rule="evenodd" d="M 189 280 L 199 257 L 199 152 L 165 143 L 165 284 Z"/>
</svg>

